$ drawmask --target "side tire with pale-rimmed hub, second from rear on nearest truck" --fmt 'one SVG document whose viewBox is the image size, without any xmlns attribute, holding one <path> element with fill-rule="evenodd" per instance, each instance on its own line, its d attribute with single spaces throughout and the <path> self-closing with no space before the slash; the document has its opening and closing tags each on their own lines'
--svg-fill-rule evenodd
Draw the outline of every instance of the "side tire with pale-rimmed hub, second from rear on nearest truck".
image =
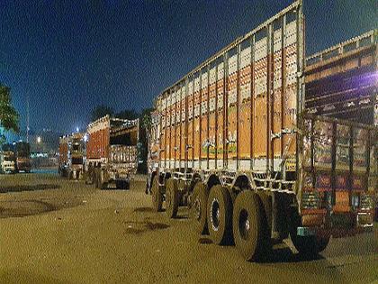
<svg viewBox="0 0 378 284">
<path fill-rule="evenodd" d="M 210 189 L 207 226 L 212 243 L 232 242 L 232 200 L 229 190 L 221 185 L 215 185 Z"/>
</svg>

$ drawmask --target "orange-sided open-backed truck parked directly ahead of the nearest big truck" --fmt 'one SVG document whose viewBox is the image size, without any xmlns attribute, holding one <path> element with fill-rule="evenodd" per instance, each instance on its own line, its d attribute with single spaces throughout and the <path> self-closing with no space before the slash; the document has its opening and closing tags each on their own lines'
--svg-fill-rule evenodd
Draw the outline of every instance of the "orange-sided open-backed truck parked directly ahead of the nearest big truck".
<svg viewBox="0 0 378 284">
<path fill-rule="evenodd" d="M 87 127 L 85 183 L 127 189 L 138 169 L 139 119 L 105 115 Z"/>
</svg>

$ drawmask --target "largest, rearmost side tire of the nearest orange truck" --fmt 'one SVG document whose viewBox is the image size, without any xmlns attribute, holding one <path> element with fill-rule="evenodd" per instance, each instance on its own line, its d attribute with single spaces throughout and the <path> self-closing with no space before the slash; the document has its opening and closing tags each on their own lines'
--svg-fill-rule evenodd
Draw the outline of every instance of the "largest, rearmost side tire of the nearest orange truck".
<svg viewBox="0 0 378 284">
<path fill-rule="evenodd" d="M 238 252 L 247 261 L 257 261 L 265 252 L 266 224 L 263 205 L 258 195 L 250 190 L 242 191 L 235 200 L 232 228 Z"/>
</svg>

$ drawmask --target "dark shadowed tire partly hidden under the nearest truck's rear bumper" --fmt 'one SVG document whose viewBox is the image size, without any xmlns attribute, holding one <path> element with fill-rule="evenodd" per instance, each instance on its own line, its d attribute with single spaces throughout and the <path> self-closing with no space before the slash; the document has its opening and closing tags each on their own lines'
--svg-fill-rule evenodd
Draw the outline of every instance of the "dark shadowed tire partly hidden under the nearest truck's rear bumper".
<svg viewBox="0 0 378 284">
<path fill-rule="evenodd" d="M 298 214 L 297 208 L 291 212 L 290 238 L 297 251 L 305 256 L 313 257 L 323 252 L 329 244 L 329 235 L 307 235 L 297 234 L 297 228 L 302 225 L 301 215 Z"/>
</svg>

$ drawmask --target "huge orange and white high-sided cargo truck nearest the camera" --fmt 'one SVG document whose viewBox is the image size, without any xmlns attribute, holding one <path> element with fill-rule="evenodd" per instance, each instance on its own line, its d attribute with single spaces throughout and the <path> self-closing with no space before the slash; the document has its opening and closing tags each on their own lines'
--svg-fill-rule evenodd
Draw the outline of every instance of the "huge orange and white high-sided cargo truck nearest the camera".
<svg viewBox="0 0 378 284">
<path fill-rule="evenodd" d="M 288 236 L 316 255 L 331 236 L 373 228 L 377 127 L 343 107 L 310 111 L 304 32 L 295 1 L 155 99 L 152 207 L 175 217 L 188 206 L 197 234 L 235 243 L 247 261 Z"/>
</svg>

